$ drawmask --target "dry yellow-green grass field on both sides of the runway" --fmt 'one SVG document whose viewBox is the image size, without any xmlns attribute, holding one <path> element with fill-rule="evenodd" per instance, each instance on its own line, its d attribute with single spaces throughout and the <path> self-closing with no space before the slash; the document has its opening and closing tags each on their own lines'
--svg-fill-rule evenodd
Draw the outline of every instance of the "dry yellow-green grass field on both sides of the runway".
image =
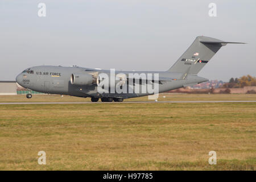
<svg viewBox="0 0 256 182">
<path fill-rule="evenodd" d="M 255 94 L 162 96 L 159 100 L 256 100 Z M 89 99 L 29 100 L 37 101 Z M 256 103 L 0 105 L 0 141 L 1 170 L 255 170 Z M 46 165 L 38 164 L 42 150 Z M 208 163 L 212 150 L 216 165 Z"/>
</svg>

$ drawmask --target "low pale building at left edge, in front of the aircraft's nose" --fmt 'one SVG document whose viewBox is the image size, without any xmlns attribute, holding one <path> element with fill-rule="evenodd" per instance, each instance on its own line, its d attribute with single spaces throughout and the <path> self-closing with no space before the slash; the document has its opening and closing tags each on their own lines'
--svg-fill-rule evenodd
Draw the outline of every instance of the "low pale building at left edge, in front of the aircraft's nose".
<svg viewBox="0 0 256 182">
<path fill-rule="evenodd" d="M 16 81 L 0 81 L 0 95 L 16 95 L 17 87 Z"/>
</svg>

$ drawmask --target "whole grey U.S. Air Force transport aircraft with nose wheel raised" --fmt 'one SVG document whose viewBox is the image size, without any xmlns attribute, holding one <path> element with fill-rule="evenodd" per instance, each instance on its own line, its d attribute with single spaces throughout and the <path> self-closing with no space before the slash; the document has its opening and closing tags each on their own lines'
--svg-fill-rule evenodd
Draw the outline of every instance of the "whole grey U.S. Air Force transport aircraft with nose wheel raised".
<svg viewBox="0 0 256 182">
<path fill-rule="evenodd" d="M 106 78 L 108 76 L 111 77 L 111 74 L 113 74 L 111 70 L 81 68 L 77 66 L 43 65 L 30 67 L 16 77 L 16 82 L 24 88 L 42 93 L 90 97 L 92 102 L 97 102 L 99 98 L 101 98 L 102 102 L 122 102 L 126 98 L 158 94 L 208 81 L 207 78 L 197 76 L 197 73 L 222 46 L 226 46 L 228 43 L 237 42 L 224 42 L 207 36 L 197 36 L 187 51 L 167 71 L 115 71 L 114 85 L 112 82 L 110 86 L 105 84 L 111 82 L 111 78 L 110 81 Z M 102 86 L 104 81 L 105 84 Z M 124 92 L 117 92 L 115 86 L 118 84 L 119 90 L 122 89 Z M 154 92 L 148 92 L 148 89 L 146 92 L 142 92 L 143 86 L 153 84 Z M 137 89 L 137 92 L 134 92 L 136 85 L 139 86 L 139 89 Z M 157 89 L 155 89 L 156 87 Z M 105 92 L 102 92 L 102 90 L 99 92 L 99 88 L 105 90 Z M 110 89 L 112 92 L 108 92 Z M 31 97 L 30 93 L 27 94 L 27 98 Z"/>
</svg>

